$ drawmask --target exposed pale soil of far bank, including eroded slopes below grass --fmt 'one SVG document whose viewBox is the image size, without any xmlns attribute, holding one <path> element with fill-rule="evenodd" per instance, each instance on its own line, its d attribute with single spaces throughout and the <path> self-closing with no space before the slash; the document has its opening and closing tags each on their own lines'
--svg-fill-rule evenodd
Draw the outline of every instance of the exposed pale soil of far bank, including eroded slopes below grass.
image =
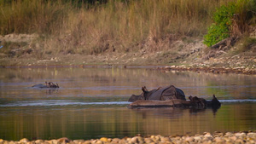
<svg viewBox="0 0 256 144">
<path fill-rule="evenodd" d="M 243 43 L 239 41 L 221 49 L 210 49 L 201 39 L 183 37 L 173 41 L 170 49 L 162 51 L 151 52 L 143 48 L 137 52 L 105 51 L 98 55 L 38 56 L 31 46 L 36 37 L 14 34 L 0 37 L 0 46 L 3 46 L 0 49 L 0 66 L 154 66 L 162 71 L 256 74 L 256 43 L 250 44 L 246 50 L 240 48 Z M 9 51 L 5 48 L 7 44 L 12 47 Z"/>
</svg>

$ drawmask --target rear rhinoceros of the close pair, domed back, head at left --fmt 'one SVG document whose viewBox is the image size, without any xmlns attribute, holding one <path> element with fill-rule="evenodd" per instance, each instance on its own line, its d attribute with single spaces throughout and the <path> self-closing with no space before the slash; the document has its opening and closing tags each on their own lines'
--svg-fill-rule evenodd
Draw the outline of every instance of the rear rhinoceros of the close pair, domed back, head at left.
<svg viewBox="0 0 256 144">
<path fill-rule="evenodd" d="M 180 99 L 186 101 L 183 90 L 175 88 L 173 85 L 158 88 L 148 91 L 148 89 L 144 86 L 142 88 L 143 93 L 141 95 L 131 95 L 129 102 L 134 102 L 137 100 L 158 100 L 158 101 L 166 101 L 172 99 Z"/>
</svg>

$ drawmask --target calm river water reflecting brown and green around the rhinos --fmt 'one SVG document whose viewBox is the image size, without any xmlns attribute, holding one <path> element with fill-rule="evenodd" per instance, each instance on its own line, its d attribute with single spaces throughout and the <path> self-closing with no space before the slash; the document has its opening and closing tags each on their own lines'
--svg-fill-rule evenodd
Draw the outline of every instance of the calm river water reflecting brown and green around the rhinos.
<svg viewBox="0 0 256 144">
<path fill-rule="evenodd" d="M 256 130 L 256 77 L 147 68 L 0 69 L 0 138 L 91 139 Z M 60 89 L 32 89 L 58 83 Z M 217 111 L 129 109 L 131 94 L 174 84 L 185 95 L 222 102 Z"/>
</svg>

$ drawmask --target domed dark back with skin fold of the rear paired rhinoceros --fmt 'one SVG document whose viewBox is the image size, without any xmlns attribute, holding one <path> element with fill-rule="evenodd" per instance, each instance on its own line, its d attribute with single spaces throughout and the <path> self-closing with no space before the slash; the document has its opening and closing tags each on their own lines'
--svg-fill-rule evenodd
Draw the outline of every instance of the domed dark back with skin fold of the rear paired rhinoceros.
<svg viewBox="0 0 256 144">
<path fill-rule="evenodd" d="M 181 99 L 185 101 L 186 98 L 183 90 L 177 89 L 173 85 L 170 85 L 165 88 L 156 90 L 148 97 L 148 100 L 166 101 L 172 99 Z"/>
</svg>

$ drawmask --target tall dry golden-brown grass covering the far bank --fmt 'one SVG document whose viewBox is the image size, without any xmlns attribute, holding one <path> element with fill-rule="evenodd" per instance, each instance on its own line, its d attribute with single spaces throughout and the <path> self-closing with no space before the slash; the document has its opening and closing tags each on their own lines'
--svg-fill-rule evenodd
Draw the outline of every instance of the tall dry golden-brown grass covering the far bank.
<svg viewBox="0 0 256 144">
<path fill-rule="evenodd" d="M 202 37 L 212 13 L 234 0 L 108 0 L 75 7 L 45 0 L 0 2 L 0 33 L 44 36 L 47 54 L 170 49 L 178 37 Z"/>
</svg>

